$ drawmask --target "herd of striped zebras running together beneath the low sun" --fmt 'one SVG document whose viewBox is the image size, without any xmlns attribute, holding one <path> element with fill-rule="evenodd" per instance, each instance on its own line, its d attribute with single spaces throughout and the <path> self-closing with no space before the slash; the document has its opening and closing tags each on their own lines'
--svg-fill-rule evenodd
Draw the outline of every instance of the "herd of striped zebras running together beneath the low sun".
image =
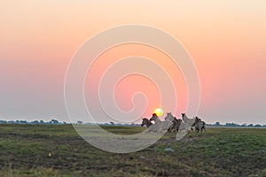
<svg viewBox="0 0 266 177">
<path fill-rule="evenodd" d="M 151 119 L 142 119 L 141 127 L 146 126 L 149 131 L 153 132 L 162 132 L 168 131 L 171 132 L 188 132 L 189 129 L 193 131 L 192 127 L 195 127 L 195 132 L 203 132 L 206 131 L 206 123 L 202 121 L 199 117 L 195 116 L 190 119 L 187 117 L 185 113 L 182 113 L 182 119 L 176 119 L 170 112 L 167 113 L 165 120 L 162 121 L 153 113 L 153 117 Z M 154 121 L 154 124 L 152 123 Z"/>
</svg>

